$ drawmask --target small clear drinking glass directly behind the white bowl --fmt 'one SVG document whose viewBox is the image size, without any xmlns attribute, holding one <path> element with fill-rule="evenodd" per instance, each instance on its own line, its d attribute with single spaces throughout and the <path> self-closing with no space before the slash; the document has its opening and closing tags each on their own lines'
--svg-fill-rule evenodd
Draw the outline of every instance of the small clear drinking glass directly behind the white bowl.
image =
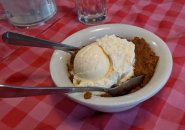
<svg viewBox="0 0 185 130">
<path fill-rule="evenodd" d="M 96 24 L 106 18 L 105 0 L 76 0 L 78 20 L 84 24 Z"/>
</svg>

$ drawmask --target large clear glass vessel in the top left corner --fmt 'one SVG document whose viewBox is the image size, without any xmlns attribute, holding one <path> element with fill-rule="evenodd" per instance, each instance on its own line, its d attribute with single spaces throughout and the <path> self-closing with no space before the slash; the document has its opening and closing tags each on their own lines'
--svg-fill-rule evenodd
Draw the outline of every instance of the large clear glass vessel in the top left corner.
<svg viewBox="0 0 185 130">
<path fill-rule="evenodd" d="M 56 14 L 55 0 L 0 0 L 4 14 L 15 26 L 31 26 L 44 22 Z"/>
</svg>

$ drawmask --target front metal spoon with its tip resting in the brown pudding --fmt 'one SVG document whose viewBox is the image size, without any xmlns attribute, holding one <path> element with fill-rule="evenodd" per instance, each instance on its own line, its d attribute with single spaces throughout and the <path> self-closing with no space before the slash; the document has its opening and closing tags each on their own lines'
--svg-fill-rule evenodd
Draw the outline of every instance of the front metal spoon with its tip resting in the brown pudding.
<svg viewBox="0 0 185 130">
<path fill-rule="evenodd" d="M 101 91 L 112 96 L 124 95 L 136 85 L 140 84 L 144 76 L 137 76 L 129 79 L 125 83 L 115 85 L 113 88 L 103 87 L 28 87 L 0 85 L 0 98 L 28 97 L 50 94 L 76 93 L 85 91 Z"/>
</svg>

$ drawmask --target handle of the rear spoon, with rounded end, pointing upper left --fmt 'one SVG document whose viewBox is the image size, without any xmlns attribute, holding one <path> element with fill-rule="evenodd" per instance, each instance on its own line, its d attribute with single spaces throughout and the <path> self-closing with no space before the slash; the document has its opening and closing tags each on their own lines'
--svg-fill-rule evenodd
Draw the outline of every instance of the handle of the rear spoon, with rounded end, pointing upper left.
<svg viewBox="0 0 185 130">
<path fill-rule="evenodd" d="M 2 35 L 2 39 L 5 43 L 18 46 L 32 46 L 32 47 L 43 47 L 43 48 L 52 48 L 56 50 L 63 51 L 74 51 L 79 48 L 73 47 L 66 44 L 57 44 L 51 41 L 15 33 L 15 32 L 5 32 Z"/>
</svg>

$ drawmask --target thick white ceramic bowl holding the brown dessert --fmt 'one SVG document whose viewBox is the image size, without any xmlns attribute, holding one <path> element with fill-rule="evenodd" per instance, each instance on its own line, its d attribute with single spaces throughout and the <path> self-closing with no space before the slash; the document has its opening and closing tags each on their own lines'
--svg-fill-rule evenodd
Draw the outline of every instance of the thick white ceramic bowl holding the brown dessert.
<svg viewBox="0 0 185 130">
<path fill-rule="evenodd" d="M 120 97 L 93 96 L 88 100 L 83 98 L 82 93 L 67 95 L 72 100 L 94 110 L 102 112 L 119 112 L 132 108 L 159 92 L 171 74 L 172 56 L 166 43 L 164 43 L 158 36 L 145 29 L 124 24 L 105 24 L 89 27 L 74 33 L 66 38 L 62 43 L 73 46 L 82 46 L 95 41 L 95 39 L 106 34 L 115 34 L 128 39 L 136 36 L 144 38 L 150 44 L 156 55 L 160 57 L 156 71 L 149 83 L 132 94 Z M 70 55 L 60 50 L 55 51 L 51 58 L 50 72 L 54 83 L 58 87 L 73 86 L 68 78 L 66 67 L 69 59 Z"/>
</svg>

